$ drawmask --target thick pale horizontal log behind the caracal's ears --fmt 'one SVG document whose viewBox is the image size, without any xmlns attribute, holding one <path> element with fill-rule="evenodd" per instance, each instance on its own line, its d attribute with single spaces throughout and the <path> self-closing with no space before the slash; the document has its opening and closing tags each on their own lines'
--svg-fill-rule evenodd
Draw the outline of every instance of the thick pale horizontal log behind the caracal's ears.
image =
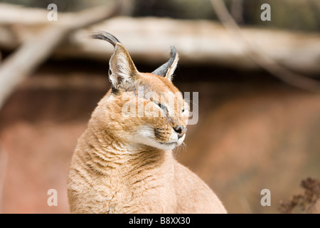
<svg viewBox="0 0 320 228">
<path fill-rule="evenodd" d="M 0 7 L 0 28 L 5 27 L 9 30 L 9 34 L 16 37 L 16 46 L 32 36 L 44 24 L 48 24 L 48 21 L 43 20 L 43 16 L 48 13 L 44 9 L 45 14 L 41 16 L 36 11 L 33 14 L 33 9 L 21 9 L 24 15 L 28 15 L 27 12 L 30 11 L 29 14 L 34 16 L 26 21 L 19 17 L 4 20 L 4 16 L 1 16 L 4 10 L 6 9 Z M 11 14 L 18 12 L 11 11 Z M 65 17 L 70 17 L 70 14 L 59 13 L 60 19 Z M 270 28 L 241 27 L 240 29 L 248 43 L 257 46 L 265 56 L 282 66 L 305 75 L 320 74 L 319 33 L 279 31 Z M 248 58 L 245 45 L 236 42 L 220 24 L 205 20 L 115 17 L 70 33 L 63 45 L 55 48 L 53 57 L 108 61 L 113 51 L 112 46 L 103 41 L 85 38 L 88 33 L 99 30 L 117 36 L 136 62 L 161 64 L 169 58 L 169 46 L 174 45 L 181 57 L 181 64 L 260 69 L 255 61 Z M 6 48 L 1 38 L 0 48 Z"/>
</svg>

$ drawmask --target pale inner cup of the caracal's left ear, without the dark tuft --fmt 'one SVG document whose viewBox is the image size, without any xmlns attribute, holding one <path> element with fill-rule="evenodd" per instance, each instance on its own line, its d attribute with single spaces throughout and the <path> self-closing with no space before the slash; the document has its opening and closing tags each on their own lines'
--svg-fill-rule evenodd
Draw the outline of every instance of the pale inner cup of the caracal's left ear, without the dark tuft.
<svg viewBox="0 0 320 228">
<path fill-rule="evenodd" d="M 139 73 L 132 58 L 121 43 L 116 44 L 109 66 L 109 78 L 112 86 L 116 89 L 130 85 Z"/>
</svg>

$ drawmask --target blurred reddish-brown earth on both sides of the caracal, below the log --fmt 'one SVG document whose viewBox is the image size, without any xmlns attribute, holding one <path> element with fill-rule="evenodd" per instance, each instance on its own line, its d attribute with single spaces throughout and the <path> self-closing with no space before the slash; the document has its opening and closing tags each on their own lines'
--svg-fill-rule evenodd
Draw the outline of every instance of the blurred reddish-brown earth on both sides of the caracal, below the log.
<svg viewBox="0 0 320 228">
<path fill-rule="evenodd" d="M 69 212 L 70 157 L 110 88 L 105 68 L 75 69 L 43 68 L 1 110 L 0 212 Z M 176 159 L 212 187 L 228 212 L 279 213 L 279 201 L 299 193 L 302 179 L 320 177 L 320 94 L 268 76 L 202 73 L 181 67 L 174 81 L 199 94 L 198 123 L 188 126 Z M 48 206 L 50 189 L 58 192 L 58 206 Z M 263 189 L 271 192 L 271 206 L 260 204 Z"/>
</svg>

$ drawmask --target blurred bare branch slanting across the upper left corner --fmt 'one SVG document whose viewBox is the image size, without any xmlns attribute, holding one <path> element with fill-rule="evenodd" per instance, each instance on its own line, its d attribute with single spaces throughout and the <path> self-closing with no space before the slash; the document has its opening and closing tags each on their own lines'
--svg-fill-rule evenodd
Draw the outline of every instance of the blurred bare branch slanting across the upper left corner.
<svg viewBox="0 0 320 228">
<path fill-rule="evenodd" d="M 90 26 L 118 14 L 121 1 L 114 8 L 98 6 L 53 21 L 39 33 L 23 42 L 18 50 L 1 63 L 0 109 L 14 88 L 30 75 L 50 53 L 73 31 Z"/>
</svg>

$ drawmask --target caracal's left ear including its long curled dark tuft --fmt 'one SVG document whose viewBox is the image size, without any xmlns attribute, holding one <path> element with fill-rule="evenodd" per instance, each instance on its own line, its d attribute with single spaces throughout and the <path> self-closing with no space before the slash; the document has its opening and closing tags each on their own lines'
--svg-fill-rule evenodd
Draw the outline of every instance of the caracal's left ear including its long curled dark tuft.
<svg viewBox="0 0 320 228">
<path fill-rule="evenodd" d="M 122 43 L 112 34 L 105 31 L 92 33 L 90 38 L 108 41 L 114 46 L 114 53 L 109 61 L 109 79 L 112 83 L 112 88 L 117 90 L 131 86 L 139 72 Z"/>
</svg>

